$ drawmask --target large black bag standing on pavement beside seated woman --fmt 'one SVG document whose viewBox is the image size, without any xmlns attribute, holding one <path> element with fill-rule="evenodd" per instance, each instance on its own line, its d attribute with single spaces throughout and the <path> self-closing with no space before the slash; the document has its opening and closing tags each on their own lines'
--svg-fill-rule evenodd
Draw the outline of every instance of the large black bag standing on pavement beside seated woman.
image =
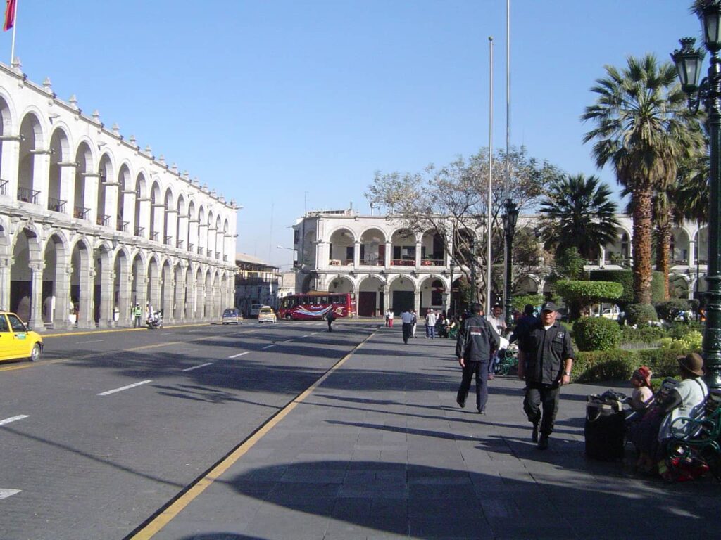
<svg viewBox="0 0 721 540">
<path fill-rule="evenodd" d="M 583 426 L 586 456 L 606 462 L 623 459 L 625 434 L 626 415 L 616 395 L 586 397 Z"/>
</svg>

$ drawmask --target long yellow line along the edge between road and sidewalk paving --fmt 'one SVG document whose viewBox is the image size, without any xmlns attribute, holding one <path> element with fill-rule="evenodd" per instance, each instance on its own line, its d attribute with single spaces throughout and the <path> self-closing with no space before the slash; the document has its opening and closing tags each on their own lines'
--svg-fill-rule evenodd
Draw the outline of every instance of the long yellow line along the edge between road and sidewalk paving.
<svg viewBox="0 0 721 540">
<path fill-rule="evenodd" d="M 252 449 L 255 444 L 260 441 L 263 436 L 265 436 L 271 429 L 273 429 L 278 423 L 280 423 L 280 420 L 283 420 L 283 418 L 286 418 L 288 413 L 291 412 L 294 408 L 296 408 L 301 402 L 303 402 L 306 397 L 311 395 L 311 393 L 319 387 L 320 384 L 324 382 L 325 379 L 327 379 L 333 372 L 335 372 L 336 369 L 340 368 L 343 364 L 345 364 L 348 359 L 350 359 L 353 354 L 355 354 L 355 351 L 358 351 L 359 348 L 363 346 L 366 341 L 371 339 L 375 332 L 371 333 L 366 339 L 361 341 L 361 343 L 358 343 L 357 346 L 353 348 L 353 351 L 350 351 L 350 353 L 346 354 L 342 357 L 339 361 L 337 361 L 330 369 L 328 369 L 327 372 L 323 374 L 322 377 L 320 377 L 316 382 L 311 384 L 304 392 L 302 392 L 300 395 L 298 395 L 295 399 L 293 399 L 288 405 L 286 405 L 284 408 L 278 411 L 273 418 L 270 418 L 265 424 L 263 424 L 260 429 L 258 429 L 255 433 L 253 433 L 249 438 L 247 438 L 245 441 L 243 441 L 239 446 L 234 449 L 234 451 L 231 451 L 230 454 L 228 454 L 224 459 L 221 459 L 220 462 L 218 462 L 214 467 L 210 469 L 210 471 L 205 474 L 203 477 L 200 477 L 200 479 L 196 480 L 195 483 L 190 485 L 190 488 L 188 488 L 187 491 L 183 492 L 180 497 L 173 500 L 172 503 L 170 503 L 167 508 L 162 510 L 161 513 L 159 513 L 157 516 L 151 519 L 149 523 L 146 526 L 143 526 L 140 531 L 138 531 L 133 536 L 128 537 L 129 540 L 148 540 L 151 539 L 153 536 L 155 536 L 164 526 L 166 526 L 170 521 L 172 521 L 175 516 L 177 516 L 183 508 L 185 508 L 187 505 L 189 505 L 193 499 L 198 497 L 203 491 L 205 491 L 208 487 L 213 484 L 216 480 L 218 480 L 221 475 L 226 472 L 235 462 L 237 462 L 242 456 L 244 456 L 247 451 Z"/>
</svg>

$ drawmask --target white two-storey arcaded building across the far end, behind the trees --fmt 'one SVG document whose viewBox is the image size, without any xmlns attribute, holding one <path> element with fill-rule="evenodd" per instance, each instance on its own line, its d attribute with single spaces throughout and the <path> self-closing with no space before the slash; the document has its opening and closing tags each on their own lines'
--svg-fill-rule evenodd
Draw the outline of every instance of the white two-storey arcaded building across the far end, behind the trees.
<svg viewBox="0 0 721 540">
<path fill-rule="evenodd" d="M 616 241 L 602 246 L 598 261 L 588 261 L 585 269 L 631 268 L 632 222 L 626 215 L 617 218 Z M 516 230 L 535 230 L 537 221 L 537 216 L 521 215 Z M 453 258 L 435 230 L 415 233 L 400 220 L 358 215 L 353 210 L 308 212 L 293 229 L 300 292 L 354 292 L 358 315 L 366 317 L 380 316 L 388 307 L 396 312 L 415 309 L 420 315 L 431 307 L 451 307 L 454 298 L 448 291 L 451 281 L 461 277 L 461 269 L 451 265 Z M 465 233 L 476 238 L 480 234 Z M 698 278 L 706 273 L 707 233 L 707 228 L 691 222 L 673 229 L 672 296 L 691 298 L 695 290 L 706 290 L 705 280 Z M 516 294 L 547 292 L 548 273 L 549 269 L 540 268 L 514 280 L 513 289 Z"/>
</svg>

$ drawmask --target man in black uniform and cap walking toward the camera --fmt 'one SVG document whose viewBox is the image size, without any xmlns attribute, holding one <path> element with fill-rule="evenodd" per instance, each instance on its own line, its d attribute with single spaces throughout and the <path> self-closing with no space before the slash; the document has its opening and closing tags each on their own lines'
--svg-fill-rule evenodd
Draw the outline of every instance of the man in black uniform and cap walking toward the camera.
<svg viewBox="0 0 721 540">
<path fill-rule="evenodd" d="M 523 410 L 533 424 L 531 441 L 538 443 L 541 450 L 548 448 L 561 387 L 570 382 L 575 357 L 571 336 L 556 316 L 556 305 L 545 302 L 541 317 L 518 344 L 518 377 L 526 379 Z"/>
</svg>

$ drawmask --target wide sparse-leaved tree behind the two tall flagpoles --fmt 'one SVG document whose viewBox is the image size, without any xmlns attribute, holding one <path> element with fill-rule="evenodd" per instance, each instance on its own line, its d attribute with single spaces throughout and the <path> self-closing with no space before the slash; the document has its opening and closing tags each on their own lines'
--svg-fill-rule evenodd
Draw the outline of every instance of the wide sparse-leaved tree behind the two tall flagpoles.
<svg viewBox="0 0 721 540">
<path fill-rule="evenodd" d="M 487 253 L 488 148 L 482 148 L 469 160 L 456 158 L 441 168 L 429 165 L 422 173 L 376 172 L 368 186 L 366 199 L 373 207 L 386 211 L 389 219 L 401 220 L 412 231 L 435 230 L 443 248 L 452 253 L 466 279 L 476 269 L 476 287 L 485 292 Z M 497 150 L 491 171 L 492 265 L 503 262 L 503 203 L 513 199 L 519 210 L 532 207 L 544 186 L 560 176 L 546 161 L 529 157 L 526 148 L 514 148 L 510 162 L 509 193 L 505 194 L 505 151 Z M 519 229 L 522 227 L 519 222 Z M 452 251 L 451 251 L 452 246 Z M 516 250 L 514 250 L 516 251 Z M 532 250 L 531 250 L 532 251 Z M 516 253 L 514 253 L 516 259 Z M 531 266 L 530 264 L 526 266 Z M 503 274 L 492 273 L 496 290 Z M 484 294 L 479 295 L 483 297 Z"/>
</svg>

